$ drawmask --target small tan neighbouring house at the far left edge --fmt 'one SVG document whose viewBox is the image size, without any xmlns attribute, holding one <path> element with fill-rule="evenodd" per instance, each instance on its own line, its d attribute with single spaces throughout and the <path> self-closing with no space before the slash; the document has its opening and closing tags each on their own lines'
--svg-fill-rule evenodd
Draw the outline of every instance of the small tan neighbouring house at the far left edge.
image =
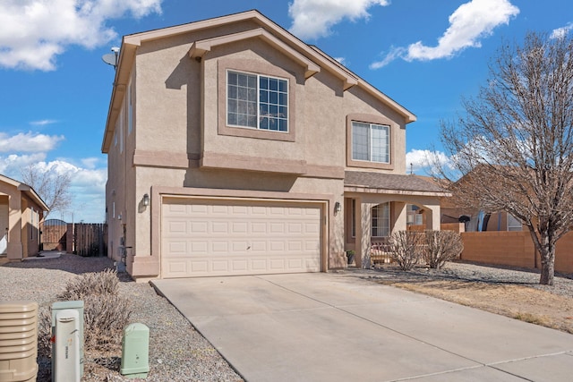
<svg viewBox="0 0 573 382">
<path fill-rule="evenodd" d="M 29 185 L 0 175 L 0 255 L 10 260 L 39 251 L 39 223 L 48 208 Z"/>
</svg>

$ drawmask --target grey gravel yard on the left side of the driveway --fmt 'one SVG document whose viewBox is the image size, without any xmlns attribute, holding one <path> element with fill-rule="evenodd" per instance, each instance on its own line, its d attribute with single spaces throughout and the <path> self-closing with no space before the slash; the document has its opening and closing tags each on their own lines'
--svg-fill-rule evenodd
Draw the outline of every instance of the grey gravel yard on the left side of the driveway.
<svg viewBox="0 0 573 382">
<path fill-rule="evenodd" d="M 37 301 L 49 309 L 67 281 L 81 273 L 113 268 L 107 258 L 62 255 L 59 259 L 33 259 L 0 267 L 0 301 Z M 213 346 L 196 332 L 150 284 L 137 284 L 120 275 L 121 293 L 130 296 L 132 322 L 150 327 L 150 373 L 146 381 L 242 381 Z M 86 356 L 82 381 L 133 381 L 118 372 L 121 351 L 107 356 Z M 49 359 L 39 359 L 38 382 L 50 380 Z M 143 379 L 141 379 L 143 380 Z"/>
</svg>

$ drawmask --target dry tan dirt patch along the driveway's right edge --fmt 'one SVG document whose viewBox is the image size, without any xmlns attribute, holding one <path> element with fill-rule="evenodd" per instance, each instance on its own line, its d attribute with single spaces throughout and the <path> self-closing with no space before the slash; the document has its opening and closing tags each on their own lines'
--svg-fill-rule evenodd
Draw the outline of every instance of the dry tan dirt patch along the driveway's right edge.
<svg viewBox="0 0 573 382">
<path fill-rule="evenodd" d="M 464 280 L 383 280 L 381 284 L 573 334 L 573 299 L 529 286 Z"/>
</svg>

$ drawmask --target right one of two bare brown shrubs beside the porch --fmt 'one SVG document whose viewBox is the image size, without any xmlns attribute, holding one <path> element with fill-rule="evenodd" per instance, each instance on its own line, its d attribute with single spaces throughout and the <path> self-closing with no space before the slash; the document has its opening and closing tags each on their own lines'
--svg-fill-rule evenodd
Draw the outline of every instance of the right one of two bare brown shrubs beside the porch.
<svg viewBox="0 0 573 382">
<path fill-rule="evenodd" d="M 464 250 L 461 235 L 453 231 L 426 231 L 423 259 L 434 269 L 440 269 L 450 260 L 458 258 Z"/>
</svg>

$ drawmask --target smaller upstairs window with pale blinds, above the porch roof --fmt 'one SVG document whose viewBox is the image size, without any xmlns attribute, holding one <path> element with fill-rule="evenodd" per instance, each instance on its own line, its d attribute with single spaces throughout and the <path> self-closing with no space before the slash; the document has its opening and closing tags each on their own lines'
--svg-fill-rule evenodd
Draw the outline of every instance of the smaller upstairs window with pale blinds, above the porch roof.
<svg viewBox="0 0 573 382">
<path fill-rule="evenodd" d="M 352 122 L 352 159 L 389 163 L 389 126 Z"/>
</svg>

